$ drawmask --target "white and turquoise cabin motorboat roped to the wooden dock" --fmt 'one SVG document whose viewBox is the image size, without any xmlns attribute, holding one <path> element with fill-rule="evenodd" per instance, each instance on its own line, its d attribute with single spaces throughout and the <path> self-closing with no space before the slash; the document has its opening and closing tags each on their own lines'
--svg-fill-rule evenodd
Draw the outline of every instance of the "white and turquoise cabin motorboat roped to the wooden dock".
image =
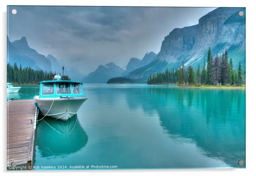
<svg viewBox="0 0 256 176">
<path fill-rule="evenodd" d="M 88 97 L 80 81 L 62 80 L 55 75 L 51 81 L 40 82 L 40 92 L 34 96 L 40 113 L 56 120 L 67 121 L 77 114 Z"/>
</svg>

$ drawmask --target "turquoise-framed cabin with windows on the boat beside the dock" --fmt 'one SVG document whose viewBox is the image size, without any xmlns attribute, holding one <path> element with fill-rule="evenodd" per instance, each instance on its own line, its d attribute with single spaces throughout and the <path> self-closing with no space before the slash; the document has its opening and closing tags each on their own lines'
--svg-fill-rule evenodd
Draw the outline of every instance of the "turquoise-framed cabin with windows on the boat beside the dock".
<svg viewBox="0 0 256 176">
<path fill-rule="evenodd" d="M 40 98 L 84 96 L 80 81 L 52 80 L 40 82 Z"/>
</svg>

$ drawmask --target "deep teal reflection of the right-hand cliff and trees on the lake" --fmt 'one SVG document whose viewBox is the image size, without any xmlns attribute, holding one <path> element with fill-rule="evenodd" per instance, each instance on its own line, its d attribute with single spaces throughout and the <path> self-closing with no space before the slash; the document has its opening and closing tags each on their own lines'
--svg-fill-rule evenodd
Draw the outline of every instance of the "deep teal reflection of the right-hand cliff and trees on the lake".
<svg viewBox="0 0 256 176">
<path fill-rule="evenodd" d="M 189 139 L 183 142 L 194 142 L 205 155 L 245 167 L 237 163 L 245 161 L 245 90 L 149 87 L 127 91 L 126 99 L 131 109 L 157 112 L 169 137 Z"/>
</svg>

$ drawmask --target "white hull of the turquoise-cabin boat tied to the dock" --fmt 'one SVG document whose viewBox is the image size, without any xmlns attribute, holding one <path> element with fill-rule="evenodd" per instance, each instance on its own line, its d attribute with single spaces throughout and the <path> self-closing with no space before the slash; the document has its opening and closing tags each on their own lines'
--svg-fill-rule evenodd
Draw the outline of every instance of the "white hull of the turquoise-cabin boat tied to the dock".
<svg viewBox="0 0 256 176">
<path fill-rule="evenodd" d="M 77 114 L 78 109 L 87 99 L 87 97 L 39 98 L 38 95 L 34 97 L 43 116 L 47 115 L 62 121 L 67 121 Z"/>
</svg>

